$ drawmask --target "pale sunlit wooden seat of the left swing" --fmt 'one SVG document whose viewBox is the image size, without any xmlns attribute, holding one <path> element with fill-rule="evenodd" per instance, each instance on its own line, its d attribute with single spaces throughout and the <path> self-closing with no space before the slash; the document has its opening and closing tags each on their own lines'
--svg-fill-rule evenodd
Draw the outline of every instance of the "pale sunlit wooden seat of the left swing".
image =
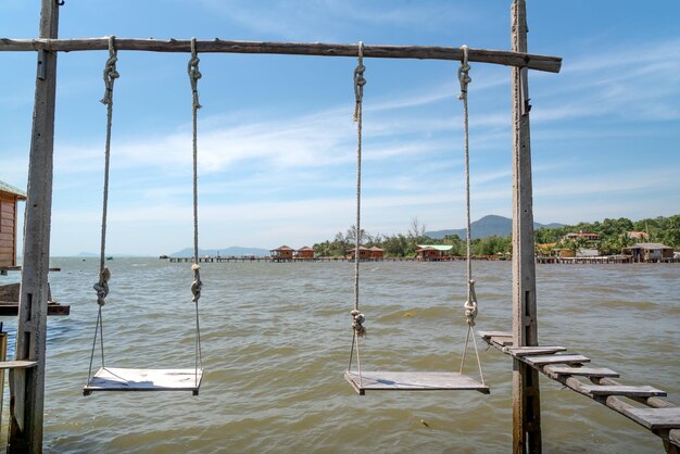
<svg viewBox="0 0 680 454">
<path fill-rule="evenodd" d="M 93 391 L 191 391 L 199 394 L 203 369 L 129 369 L 102 367 L 83 388 Z"/>
</svg>

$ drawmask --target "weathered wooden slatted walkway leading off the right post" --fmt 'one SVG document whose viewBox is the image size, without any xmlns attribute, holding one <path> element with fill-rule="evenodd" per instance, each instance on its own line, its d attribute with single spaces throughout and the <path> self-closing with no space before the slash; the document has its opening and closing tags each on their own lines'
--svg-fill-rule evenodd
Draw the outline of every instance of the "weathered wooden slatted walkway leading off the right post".
<svg viewBox="0 0 680 454">
<path fill-rule="evenodd" d="M 588 365 L 590 358 L 566 353 L 564 346 L 513 346 L 513 335 L 503 331 L 480 331 L 489 345 L 526 363 L 547 378 L 583 394 L 632 419 L 662 438 L 668 452 L 680 447 L 680 406 L 664 401 L 666 392 L 650 386 L 625 386 L 614 380 L 618 373 Z M 590 380 L 582 381 L 579 378 Z M 631 405 L 627 398 L 645 407 Z"/>
</svg>

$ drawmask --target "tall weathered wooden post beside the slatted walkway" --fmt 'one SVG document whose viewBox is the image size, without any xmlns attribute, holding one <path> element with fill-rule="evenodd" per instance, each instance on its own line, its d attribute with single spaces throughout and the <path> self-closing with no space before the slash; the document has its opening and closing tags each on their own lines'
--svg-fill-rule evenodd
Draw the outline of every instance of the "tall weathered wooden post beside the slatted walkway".
<svg viewBox="0 0 680 454">
<path fill-rule="evenodd" d="M 526 0 L 512 7 L 512 50 L 527 52 Z M 538 345 L 528 70 L 513 67 L 513 343 Z M 538 370 L 513 361 L 513 452 L 541 452 Z"/>
</svg>

